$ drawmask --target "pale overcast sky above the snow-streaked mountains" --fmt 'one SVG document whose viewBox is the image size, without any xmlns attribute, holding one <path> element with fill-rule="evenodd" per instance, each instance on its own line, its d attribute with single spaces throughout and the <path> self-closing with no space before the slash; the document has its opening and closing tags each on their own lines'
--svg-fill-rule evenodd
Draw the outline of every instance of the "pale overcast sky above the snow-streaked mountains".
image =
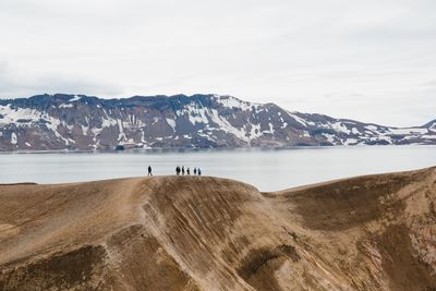
<svg viewBox="0 0 436 291">
<path fill-rule="evenodd" d="M 1 0 L 0 96 L 228 94 L 436 119 L 434 0 Z"/>
</svg>

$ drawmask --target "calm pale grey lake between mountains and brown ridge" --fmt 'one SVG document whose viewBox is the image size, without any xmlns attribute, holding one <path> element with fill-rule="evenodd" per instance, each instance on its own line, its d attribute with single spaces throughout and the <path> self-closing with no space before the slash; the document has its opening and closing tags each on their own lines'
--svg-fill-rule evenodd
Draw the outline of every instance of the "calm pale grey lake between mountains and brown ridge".
<svg viewBox="0 0 436 291">
<path fill-rule="evenodd" d="M 436 146 L 296 147 L 121 153 L 0 154 L 0 183 L 63 183 L 173 174 L 175 166 L 199 167 L 203 175 L 240 180 L 261 191 L 353 175 L 436 166 Z"/>
</svg>

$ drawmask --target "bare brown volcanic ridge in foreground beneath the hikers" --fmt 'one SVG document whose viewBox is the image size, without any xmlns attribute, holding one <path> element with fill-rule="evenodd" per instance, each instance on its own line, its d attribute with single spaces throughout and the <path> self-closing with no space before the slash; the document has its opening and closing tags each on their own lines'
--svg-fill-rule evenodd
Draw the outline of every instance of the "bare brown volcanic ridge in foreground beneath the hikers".
<svg viewBox="0 0 436 291">
<path fill-rule="evenodd" d="M 436 290 L 435 202 L 436 168 L 1 185 L 0 290 Z"/>
</svg>

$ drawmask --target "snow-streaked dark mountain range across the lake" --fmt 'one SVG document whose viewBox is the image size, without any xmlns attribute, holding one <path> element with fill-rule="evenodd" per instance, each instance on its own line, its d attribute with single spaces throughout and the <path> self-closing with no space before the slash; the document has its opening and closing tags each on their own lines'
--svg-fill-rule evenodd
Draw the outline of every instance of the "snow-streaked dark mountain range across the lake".
<svg viewBox="0 0 436 291">
<path fill-rule="evenodd" d="M 0 99 L 0 150 L 436 144 L 436 120 L 391 128 L 231 96 Z"/>
</svg>

